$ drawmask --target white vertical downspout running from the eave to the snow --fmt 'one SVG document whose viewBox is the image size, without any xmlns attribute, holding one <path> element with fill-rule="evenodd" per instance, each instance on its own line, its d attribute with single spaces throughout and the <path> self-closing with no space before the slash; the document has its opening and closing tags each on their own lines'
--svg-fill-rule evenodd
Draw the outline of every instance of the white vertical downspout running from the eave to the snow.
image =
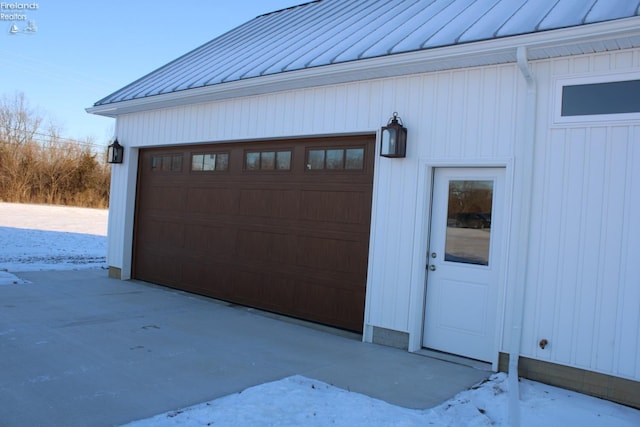
<svg viewBox="0 0 640 427">
<path fill-rule="evenodd" d="M 519 46 L 516 50 L 518 67 L 527 82 L 525 100 L 523 138 L 516 150 L 516 165 L 520 165 L 521 183 L 519 198 L 520 215 L 518 227 L 518 256 L 516 258 L 514 304 L 509 349 L 509 425 L 520 426 L 520 386 L 518 382 L 518 359 L 522 341 L 522 323 L 524 312 L 525 283 L 528 276 L 529 238 L 531 235 L 531 207 L 533 194 L 533 165 L 536 127 L 536 81 L 529 68 L 527 48 Z M 520 156 L 518 161 L 517 156 Z M 517 172 L 517 171 L 516 171 Z"/>
</svg>

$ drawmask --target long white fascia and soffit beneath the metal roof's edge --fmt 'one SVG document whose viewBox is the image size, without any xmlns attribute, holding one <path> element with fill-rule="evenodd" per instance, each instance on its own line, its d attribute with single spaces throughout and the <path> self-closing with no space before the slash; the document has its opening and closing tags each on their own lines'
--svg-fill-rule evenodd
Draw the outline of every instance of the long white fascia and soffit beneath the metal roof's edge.
<svg viewBox="0 0 640 427">
<path fill-rule="evenodd" d="M 306 87 L 349 83 L 445 69 L 516 62 L 516 49 L 526 46 L 536 58 L 545 50 L 611 39 L 640 40 L 640 17 L 542 31 L 454 46 L 287 71 L 229 83 L 98 105 L 88 113 L 107 117 L 187 104 L 261 95 Z M 637 45 L 636 41 L 632 42 Z M 534 55 L 531 55 L 534 56 Z"/>
</svg>

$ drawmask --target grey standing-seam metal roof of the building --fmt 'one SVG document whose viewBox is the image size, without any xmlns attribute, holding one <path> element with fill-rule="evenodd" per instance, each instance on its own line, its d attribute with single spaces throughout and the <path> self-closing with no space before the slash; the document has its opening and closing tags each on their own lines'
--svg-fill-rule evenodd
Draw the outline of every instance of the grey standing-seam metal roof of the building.
<svg viewBox="0 0 640 427">
<path fill-rule="evenodd" d="M 640 15 L 640 0 L 316 0 L 256 17 L 96 102 Z"/>
</svg>

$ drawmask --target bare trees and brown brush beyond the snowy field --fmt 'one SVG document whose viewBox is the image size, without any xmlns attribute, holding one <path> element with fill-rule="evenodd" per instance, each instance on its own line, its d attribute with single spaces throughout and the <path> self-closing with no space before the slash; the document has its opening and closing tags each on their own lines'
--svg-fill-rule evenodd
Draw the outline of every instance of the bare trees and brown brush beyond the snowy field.
<svg viewBox="0 0 640 427">
<path fill-rule="evenodd" d="M 0 201 L 106 207 L 110 170 L 91 150 L 43 116 L 23 94 L 0 101 Z"/>
</svg>

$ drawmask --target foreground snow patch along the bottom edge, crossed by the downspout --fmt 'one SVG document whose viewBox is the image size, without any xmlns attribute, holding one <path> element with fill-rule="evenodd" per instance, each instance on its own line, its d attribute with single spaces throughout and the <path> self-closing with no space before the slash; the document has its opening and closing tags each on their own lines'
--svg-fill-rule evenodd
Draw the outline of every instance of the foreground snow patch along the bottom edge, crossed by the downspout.
<svg viewBox="0 0 640 427">
<path fill-rule="evenodd" d="M 579 393 L 522 380 L 522 426 L 635 426 L 640 411 Z M 294 376 L 262 384 L 127 427 L 164 426 L 507 426 L 505 374 L 443 404 L 415 410 Z"/>
</svg>

